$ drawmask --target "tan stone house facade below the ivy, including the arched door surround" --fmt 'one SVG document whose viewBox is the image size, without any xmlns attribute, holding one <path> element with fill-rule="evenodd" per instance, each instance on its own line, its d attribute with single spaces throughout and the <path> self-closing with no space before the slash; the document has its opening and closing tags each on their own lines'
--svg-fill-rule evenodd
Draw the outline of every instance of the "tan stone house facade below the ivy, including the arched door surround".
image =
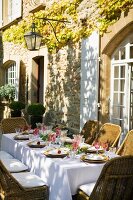
<svg viewBox="0 0 133 200">
<path fill-rule="evenodd" d="M 31 0 L 23 0 L 23 17 L 29 14 L 36 5 Z M 45 4 L 43 4 L 45 6 Z M 91 8 L 89 8 L 91 9 Z M 93 13 L 94 14 L 94 13 Z M 110 96 L 110 62 L 111 55 L 120 42 L 133 31 L 133 10 L 109 28 L 109 32 L 101 37 L 100 65 L 100 116 L 102 123 L 109 121 Z M 124 22 L 124 23 L 123 23 Z M 56 54 L 49 54 L 46 47 L 37 52 L 30 52 L 22 45 L 5 42 L 3 44 L 3 60 L 0 60 L 0 84 L 4 84 L 5 69 L 11 61 L 20 63 L 19 100 L 26 104 L 36 102 L 34 91 L 35 71 L 33 61 L 44 57 L 44 89 L 43 99 L 46 115 L 52 122 L 64 121 L 69 127 L 80 128 L 80 42 L 68 45 Z M 33 77 L 34 76 L 34 77 Z M 108 77 L 108 78 L 107 78 Z M 1 118 L 3 116 L 0 116 Z"/>
</svg>

